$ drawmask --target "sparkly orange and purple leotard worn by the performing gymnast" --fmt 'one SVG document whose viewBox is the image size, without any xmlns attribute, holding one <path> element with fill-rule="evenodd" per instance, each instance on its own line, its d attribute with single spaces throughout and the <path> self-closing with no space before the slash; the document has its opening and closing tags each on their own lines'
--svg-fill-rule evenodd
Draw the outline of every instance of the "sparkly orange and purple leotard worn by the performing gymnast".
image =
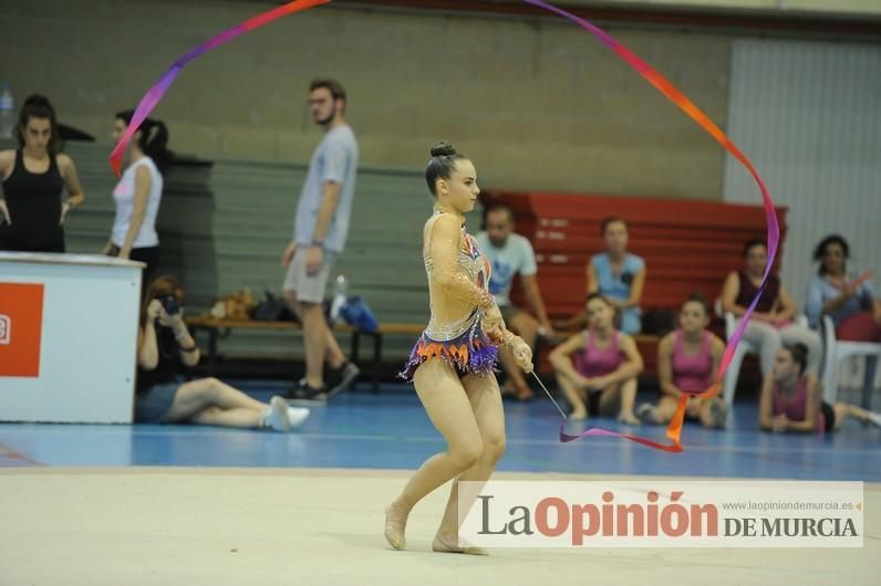
<svg viewBox="0 0 881 586">
<path fill-rule="evenodd" d="M 435 212 L 428 220 L 431 224 L 443 212 Z M 426 230 L 426 232 L 427 232 Z M 484 291 L 488 291 L 490 264 L 477 248 L 477 241 L 462 227 L 463 245 L 459 249 L 457 268 L 459 273 L 469 282 Z M 428 251 L 426 239 L 423 247 L 423 260 L 428 280 L 434 273 L 434 261 Z M 410 359 L 401 373 L 401 377 L 413 380 L 416 368 L 428 358 L 441 358 L 453 366 L 459 376 L 473 373 L 478 376 L 489 376 L 496 370 L 498 347 L 484 334 L 480 317 L 483 311 L 475 306 L 467 315 L 450 322 L 441 322 L 435 316 L 434 302 L 429 302 L 432 317 L 428 326 L 416 341 Z"/>
</svg>

